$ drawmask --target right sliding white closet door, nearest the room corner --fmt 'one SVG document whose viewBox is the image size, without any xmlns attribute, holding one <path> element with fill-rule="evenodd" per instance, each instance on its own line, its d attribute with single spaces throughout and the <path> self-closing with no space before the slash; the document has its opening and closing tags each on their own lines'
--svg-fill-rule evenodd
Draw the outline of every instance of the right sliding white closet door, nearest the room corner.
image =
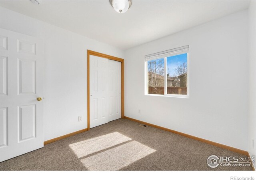
<svg viewBox="0 0 256 180">
<path fill-rule="evenodd" d="M 121 118 L 121 62 L 108 60 L 108 121 Z"/>
</svg>

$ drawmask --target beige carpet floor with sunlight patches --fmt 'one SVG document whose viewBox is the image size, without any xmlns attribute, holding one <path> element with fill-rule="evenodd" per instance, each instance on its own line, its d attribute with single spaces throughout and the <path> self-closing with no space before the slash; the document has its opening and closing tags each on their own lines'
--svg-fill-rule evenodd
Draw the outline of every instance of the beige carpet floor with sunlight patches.
<svg viewBox="0 0 256 180">
<path fill-rule="evenodd" d="M 210 155 L 243 156 L 119 119 L 0 163 L 0 170 L 252 170 L 210 168 Z"/>
</svg>

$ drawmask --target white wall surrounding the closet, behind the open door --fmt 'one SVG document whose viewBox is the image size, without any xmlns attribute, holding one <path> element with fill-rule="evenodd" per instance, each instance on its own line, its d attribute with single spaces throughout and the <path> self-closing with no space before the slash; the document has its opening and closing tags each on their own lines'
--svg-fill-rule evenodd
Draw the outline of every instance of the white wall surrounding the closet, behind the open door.
<svg viewBox="0 0 256 180">
<path fill-rule="evenodd" d="M 87 128 L 86 51 L 119 58 L 124 52 L 2 7 L 0 28 L 44 40 L 44 140 Z"/>
</svg>

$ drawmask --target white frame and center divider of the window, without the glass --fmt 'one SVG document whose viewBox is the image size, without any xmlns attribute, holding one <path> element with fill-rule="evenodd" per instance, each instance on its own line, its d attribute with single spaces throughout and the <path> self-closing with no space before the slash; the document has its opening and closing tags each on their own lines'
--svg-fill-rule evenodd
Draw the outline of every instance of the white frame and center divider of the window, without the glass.
<svg viewBox="0 0 256 180">
<path fill-rule="evenodd" d="M 189 46 L 188 46 L 189 47 Z M 187 54 L 187 94 L 167 94 L 167 57 L 176 56 L 179 54 Z M 190 86 L 189 86 L 189 51 L 188 52 L 180 52 L 174 53 L 173 55 L 169 55 L 164 57 L 164 94 L 148 94 L 148 61 L 145 61 L 145 95 L 146 96 L 161 96 L 161 97 L 175 97 L 175 98 L 189 98 Z"/>
</svg>

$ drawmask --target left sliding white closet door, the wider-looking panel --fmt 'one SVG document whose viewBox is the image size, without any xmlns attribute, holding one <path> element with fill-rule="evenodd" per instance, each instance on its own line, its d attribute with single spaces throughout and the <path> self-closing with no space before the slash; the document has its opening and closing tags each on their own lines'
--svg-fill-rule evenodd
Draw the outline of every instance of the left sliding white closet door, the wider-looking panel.
<svg viewBox="0 0 256 180">
<path fill-rule="evenodd" d="M 90 128 L 108 122 L 108 59 L 90 55 Z"/>
</svg>

